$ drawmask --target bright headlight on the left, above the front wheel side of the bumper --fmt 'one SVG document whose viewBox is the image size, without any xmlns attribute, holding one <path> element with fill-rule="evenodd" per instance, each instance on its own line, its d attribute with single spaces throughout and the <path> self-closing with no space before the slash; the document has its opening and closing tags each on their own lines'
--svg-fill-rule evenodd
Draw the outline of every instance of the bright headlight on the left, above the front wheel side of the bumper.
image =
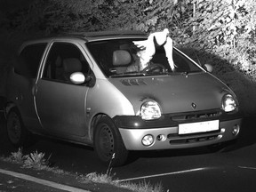
<svg viewBox="0 0 256 192">
<path fill-rule="evenodd" d="M 156 101 L 146 101 L 141 105 L 140 116 L 144 120 L 158 119 L 161 116 L 161 109 Z"/>
</svg>

